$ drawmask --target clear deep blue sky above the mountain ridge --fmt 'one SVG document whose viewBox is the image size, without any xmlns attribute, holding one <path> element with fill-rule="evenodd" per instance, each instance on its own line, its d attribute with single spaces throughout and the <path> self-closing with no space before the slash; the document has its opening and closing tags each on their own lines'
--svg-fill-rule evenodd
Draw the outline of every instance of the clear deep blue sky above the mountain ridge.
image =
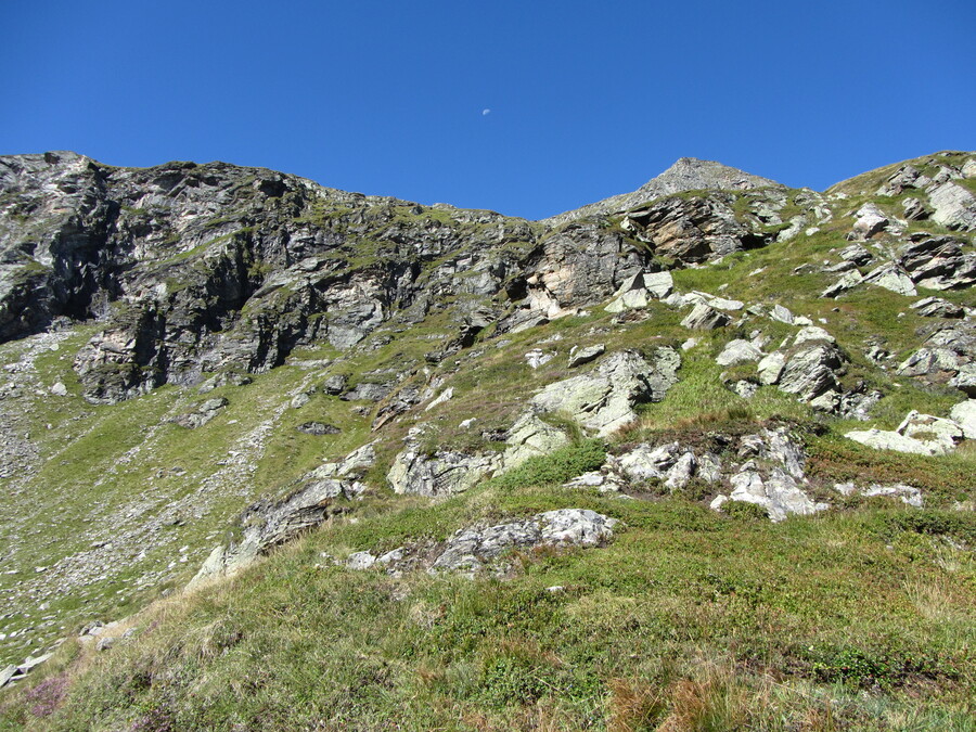
<svg viewBox="0 0 976 732">
<path fill-rule="evenodd" d="M 974 0 L 7 0 L 0 27 L 3 154 L 541 218 L 681 156 L 823 189 L 976 149 Z"/>
</svg>

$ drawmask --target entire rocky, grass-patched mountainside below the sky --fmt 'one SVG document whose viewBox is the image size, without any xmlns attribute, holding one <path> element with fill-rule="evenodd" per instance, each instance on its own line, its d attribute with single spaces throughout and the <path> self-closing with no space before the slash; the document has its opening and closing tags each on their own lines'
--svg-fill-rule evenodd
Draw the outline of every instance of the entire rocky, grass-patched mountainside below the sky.
<svg viewBox="0 0 976 732">
<path fill-rule="evenodd" d="M 0 157 L 0 729 L 971 729 L 974 285 L 968 152 Z"/>
</svg>

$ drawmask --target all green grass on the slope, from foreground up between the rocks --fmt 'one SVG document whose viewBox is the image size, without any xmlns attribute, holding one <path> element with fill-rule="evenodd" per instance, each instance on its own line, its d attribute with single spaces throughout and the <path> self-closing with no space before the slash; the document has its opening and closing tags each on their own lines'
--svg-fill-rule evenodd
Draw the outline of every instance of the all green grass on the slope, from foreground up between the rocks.
<svg viewBox="0 0 976 732">
<path fill-rule="evenodd" d="M 850 196 L 837 204 L 838 215 L 859 205 L 858 196 L 866 200 L 862 192 L 884 178 L 876 177 L 838 184 Z M 781 303 L 814 322 L 824 319 L 851 357 L 848 377 L 863 377 L 886 393 L 868 426 L 894 427 L 912 408 L 946 414 L 960 400 L 958 393 L 890 374 L 882 378 L 863 356 L 869 343 L 879 344 L 897 362 L 917 346 L 919 329 L 932 322 L 909 309 L 917 298 L 864 286 L 836 301 L 821 300 L 819 293 L 834 278 L 794 273 L 807 262 L 835 261 L 850 223 L 839 218 L 789 244 L 676 272 L 676 283 L 682 292 L 714 293 L 727 284 L 723 296 Z M 760 268 L 763 272 L 752 274 Z M 926 294 L 935 293 L 920 292 L 920 297 Z M 976 304 L 972 291 L 938 294 Z M 565 362 L 573 345 L 651 349 L 691 335 L 679 325 L 683 313 L 659 304 L 647 313 L 646 320 L 621 326 L 593 309 L 505 336 L 509 343 L 501 347 L 493 339 L 476 344 L 438 370 L 448 380 L 445 386 L 454 387 L 453 399 L 369 437 L 369 418 L 350 415 L 348 404 L 334 397 L 317 394 L 300 410 L 285 410 L 257 463 L 251 496 L 280 492 L 323 459 L 378 438 L 381 464 L 372 474 L 371 495 L 356 509 L 358 523 L 328 526 L 232 582 L 151 607 L 136 620 L 138 640 L 110 654 L 93 657 L 67 644 L 56 664 L 22 686 L 0 717 L 10 729 L 126 729 L 137 722 L 142 725 L 133 729 L 220 729 L 232 722 L 240 729 L 306 723 L 377 729 L 398 721 L 408 729 L 624 730 L 665 720 L 670 729 L 695 729 L 695 715 L 699 727 L 714 715 L 720 720 L 714 729 L 845 723 L 965 729 L 966 711 L 973 711 L 966 707 L 974 640 L 967 598 L 976 590 L 976 574 L 972 554 L 959 542 L 972 545 L 974 528 L 972 514 L 938 509 L 973 501 L 976 453 L 960 450 L 932 459 L 875 452 L 839 437 L 851 424 L 825 420 L 773 387 L 745 400 L 722 386 L 722 370 L 712 358 L 724 343 L 759 329 L 774 347 L 795 328 L 753 319 L 740 329 L 694 334 L 702 342 L 683 354 L 681 382 L 664 402 L 644 408 L 640 423 L 618 440 L 653 440 L 676 429 L 694 433 L 737 422 L 755 426 L 755 421 L 782 416 L 811 427 L 814 478 L 902 480 L 925 489 L 935 510 L 909 513 L 884 502 L 855 501 L 848 513 L 772 526 L 716 516 L 702 502 L 680 497 L 637 502 L 531 487 L 545 473 L 536 479 L 523 476 L 528 487 L 521 490 L 495 484 L 435 506 L 388 495 L 384 468 L 410 426 L 433 425 L 432 446 L 490 449 L 480 433 L 508 426 L 532 391 L 568 375 Z M 419 368 L 423 355 L 438 346 L 447 320 L 447 313 L 436 313 L 399 333 L 389 325 L 384 330 L 396 335 L 393 343 L 363 348 L 321 372 L 285 367 L 259 375 L 251 386 L 224 387 L 215 395 L 224 394 L 231 404 L 214 423 L 194 433 L 159 427 L 153 460 L 116 473 L 99 490 L 107 491 L 106 499 L 121 499 L 174 461 L 213 463 L 235 435 L 268 418 L 286 399 L 283 395 L 303 383 L 313 385 L 333 372 L 347 373 L 355 383 L 384 369 Z M 532 371 L 522 356 L 534 347 L 557 356 Z M 335 356 L 330 349 L 301 355 Z M 57 375 L 77 390 L 63 361 L 41 365 L 50 381 Z M 418 371 L 407 383 L 422 385 L 426 378 Z M 171 397 L 172 391 L 163 391 L 104 409 L 73 398 L 77 412 L 62 406 L 39 413 L 38 424 L 54 427 L 46 435 L 46 457 L 57 454 L 61 461 L 44 465 L 38 485 L 70 490 L 61 498 L 42 496 L 38 508 L 72 496 L 86 508 L 69 510 L 68 517 L 87 515 L 95 476 L 111 473 L 111 464 L 129 447 L 126 440 L 138 442 L 140 431 L 179 411 L 164 407 Z M 475 427 L 458 429 L 471 416 L 477 416 Z M 344 433 L 323 440 L 294 431 L 313 419 L 337 424 Z M 237 422 L 231 425 L 232 420 Z M 75 437 L 82 433 L 100 451 Z M 106 441 L 117 449 L 105 452 Z M 153 479 L 164 481 L 164 488 L 172 479 L 167 495 L 179 496 L 203 477 L 201 472 L 192 479 Z M 176 542 L 191 545 L 194 561 L 170 570 L 130 606 L 184 581 L 241 501 L 228 500 L 185 527 L 174 527 L 172 545 L 158 550 L 147 566 L 158 566 Z M 628 529 L 607 549 L 521 557 L 523 569 L 501 583 L 424 575 L 393 579 L 314 566 L 321 551 L 393 549 L 423 537 L 442 539 L 481 517 L 495 521 L 567 505 L 618 516 Z M 64 521 L 44 530 L 56 534 L 63 527 L 64 535 L 52 538 L 70 550 L 74 526 Z M 24 566 L 48 561 L 40 555 L 20 560 Z M 552 585 L 567 591 L 543 591 Z M 115 586 L 95 586 L 68 619 L 125 614 L 115 591 Z"/>
</svg>

